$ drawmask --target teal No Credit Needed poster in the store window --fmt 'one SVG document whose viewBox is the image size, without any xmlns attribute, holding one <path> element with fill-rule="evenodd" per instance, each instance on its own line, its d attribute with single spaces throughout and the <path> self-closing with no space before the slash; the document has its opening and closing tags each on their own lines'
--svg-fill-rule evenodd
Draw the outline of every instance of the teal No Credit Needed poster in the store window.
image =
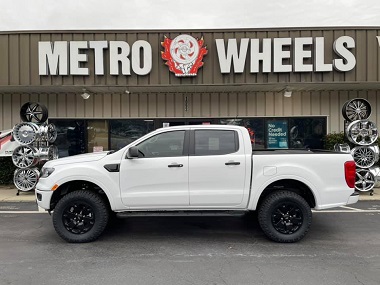
<svg viewBox="0 0 380 285">
<path fill-rule="evenodd" d="M 288 148 L 288 122 L 267 122 L 268 148 Z"/>
</svg>

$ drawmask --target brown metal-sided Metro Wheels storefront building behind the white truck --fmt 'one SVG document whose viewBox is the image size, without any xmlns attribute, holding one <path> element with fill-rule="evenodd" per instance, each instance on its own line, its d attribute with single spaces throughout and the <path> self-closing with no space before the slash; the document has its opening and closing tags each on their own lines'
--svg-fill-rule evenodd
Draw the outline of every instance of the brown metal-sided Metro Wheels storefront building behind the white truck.
<svg viewBox="0 0 380 285">
<path fill-rule="evenodd" d="M 370 102 L 379 125 L 379 38 L 380 28 L 3 32 L 0 130 L 39 102 L 60 156 L 181 124 L 243 125 L 254 148 L 323 148 L 344 130 L 349 99 Z"/>
</svg>

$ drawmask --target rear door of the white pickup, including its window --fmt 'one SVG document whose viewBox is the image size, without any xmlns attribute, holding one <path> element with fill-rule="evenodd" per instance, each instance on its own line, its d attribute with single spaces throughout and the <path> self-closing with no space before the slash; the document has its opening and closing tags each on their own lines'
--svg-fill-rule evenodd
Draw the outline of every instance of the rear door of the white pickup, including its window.
<svg viewBox="0 0 380 285">
<path fill-rule="evenodd" d="M 191 132 L 190 206 L 242 204 L 244 193 L 249 189 L 250 165 L 244 146 L 239 145 L 239 135 L 235 130 L 195 129 Z"/>
</svg>

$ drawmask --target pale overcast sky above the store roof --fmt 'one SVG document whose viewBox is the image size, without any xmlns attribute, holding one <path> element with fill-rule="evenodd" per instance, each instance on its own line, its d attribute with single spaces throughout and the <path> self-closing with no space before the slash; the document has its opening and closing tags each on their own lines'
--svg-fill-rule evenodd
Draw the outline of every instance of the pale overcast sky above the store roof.
<svg viewBox="0 0 380 285">
<path fill-rule="evenodd" d="M 380 27 L 379 0 L 0 0 L 0 31 Z"/>
</svg>

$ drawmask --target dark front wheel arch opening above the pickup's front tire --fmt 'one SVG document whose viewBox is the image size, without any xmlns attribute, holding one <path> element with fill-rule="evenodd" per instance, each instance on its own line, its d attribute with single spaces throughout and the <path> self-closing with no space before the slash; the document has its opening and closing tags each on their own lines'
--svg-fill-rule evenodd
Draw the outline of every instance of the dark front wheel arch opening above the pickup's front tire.
<svg viewBox="0 0 380 285">
<path fill-rule="evenodd" d="M 77 191 L 77 190 L 88 190 L 96 192 L 107 204 L 108 208 L 111 209 L 111 202 L 107 193 L 96 183 L 90 182 L 87 180 L 73 180 L 65 182 L 60 185 L 50 199 L 50 210 L 54 210 L 58 201 L 61 200 L 68 193 Z"/>
</svg>

